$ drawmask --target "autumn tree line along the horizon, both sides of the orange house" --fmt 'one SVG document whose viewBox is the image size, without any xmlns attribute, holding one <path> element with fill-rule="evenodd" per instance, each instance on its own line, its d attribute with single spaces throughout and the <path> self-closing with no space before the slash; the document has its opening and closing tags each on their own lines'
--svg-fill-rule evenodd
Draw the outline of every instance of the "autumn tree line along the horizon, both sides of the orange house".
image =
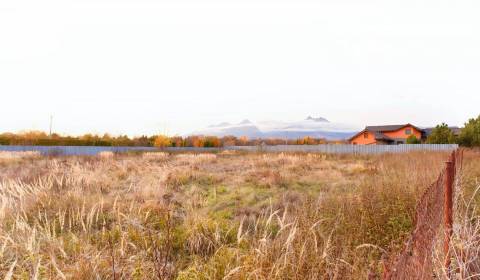
<svg viewBox="0 0 480 280">
<path fill-rule="evenodd" d="M 43 131 L 26 131 L 21 133 L 0 134 L 0 145 L 23 146 L 128 146 L 128 147 L 204 147 L 215 148 L 224 146 L 256 146 L 256 145 L 318 145 L 318 144 L 344 144 L 346 141 L 327 141 L 323 138 L 303 137 L 299 139 L 249 139 L 246 136 L 166 136 L 142 135 L 128 137 L 127 135 L 112 136 L 108 133 L 100 136 L 84 134 L 81 136 L 62 136 L 57 133 L 48 135 Z M 419 144 L 420 139 L 411 136 L 407 144 Z M 427 144 L 459 144 L 465 147 L 480 147 L 480 115 L 469 119 L 455 135 L 447 124 L 437 125 L 427 137 Z"/>
</svg>

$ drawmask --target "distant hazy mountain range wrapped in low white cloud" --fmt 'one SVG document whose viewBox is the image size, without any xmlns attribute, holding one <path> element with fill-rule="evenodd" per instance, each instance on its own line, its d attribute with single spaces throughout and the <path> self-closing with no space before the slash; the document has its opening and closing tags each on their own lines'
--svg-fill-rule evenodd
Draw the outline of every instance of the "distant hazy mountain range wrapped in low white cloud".
<svg viewBox="0 0 480 280">
<path fill-rule="evenodd" d="M 306 136 L 314 138 L 325 138 L 328 140 L 347 139 L 359 131 L 358 127 L 345 124 L 332 123 L 322 117 L 308 116 L 304 120 L 284 121 L 263 121 L 252 122 L 243 120 L 239 123 L 222 122 L 210 125 L 204 130 L 191 133 L 191 135 L 212 135 L 236 137 L 247 136 L 248 138 L 282 138 L 298 139 Z"/>
</svg>

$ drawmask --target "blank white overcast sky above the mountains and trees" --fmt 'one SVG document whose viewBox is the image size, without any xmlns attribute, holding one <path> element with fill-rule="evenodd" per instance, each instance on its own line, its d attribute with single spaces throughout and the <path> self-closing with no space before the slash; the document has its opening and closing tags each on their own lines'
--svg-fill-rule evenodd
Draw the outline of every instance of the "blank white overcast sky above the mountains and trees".
<svg viewBox="0 0 480 280">
<path fill-rule="evenodd" d="M 479 1 L 0 0 L 0 132 L 480 113 Z"/>
</svg>

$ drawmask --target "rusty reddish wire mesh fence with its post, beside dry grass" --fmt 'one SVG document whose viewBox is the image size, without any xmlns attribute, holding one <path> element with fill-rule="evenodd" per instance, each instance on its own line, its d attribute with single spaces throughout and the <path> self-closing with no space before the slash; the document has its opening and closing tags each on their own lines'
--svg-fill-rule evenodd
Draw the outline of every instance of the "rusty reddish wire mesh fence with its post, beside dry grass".
<svg viewBox="0 0 480 280">
<path fill-rule="evenodd" d="M 462 162 L 463 151 L 453 151 L 438 179 L 425 190 L 416 207 L 414 229 L 401 253 L 386 265 L 383 279 L 434 279 L 432 252 L 440 236 L 449 271 L 454 181 Z"/>
</svg>

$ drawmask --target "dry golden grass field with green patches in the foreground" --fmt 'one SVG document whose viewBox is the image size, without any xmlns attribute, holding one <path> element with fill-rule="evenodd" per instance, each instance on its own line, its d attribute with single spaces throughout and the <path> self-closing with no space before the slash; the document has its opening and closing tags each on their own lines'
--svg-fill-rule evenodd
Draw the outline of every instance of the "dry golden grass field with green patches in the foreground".
<svg viewBox="0 0 480 280">
<path fill-rule="evenodd" d="M 0 276 L 379 277 L 383 261 L 405 242 L 416 201 L 446 157 L 3 155 Z M 472 259 L 480 248 L 478 159 L 466 154 L 465 189 L 457 192 L 464 206 L 456 217 L 455 242 L 470 249 Z M 458 262 L 467 274 L 475 265 Z"/>
</svg>

